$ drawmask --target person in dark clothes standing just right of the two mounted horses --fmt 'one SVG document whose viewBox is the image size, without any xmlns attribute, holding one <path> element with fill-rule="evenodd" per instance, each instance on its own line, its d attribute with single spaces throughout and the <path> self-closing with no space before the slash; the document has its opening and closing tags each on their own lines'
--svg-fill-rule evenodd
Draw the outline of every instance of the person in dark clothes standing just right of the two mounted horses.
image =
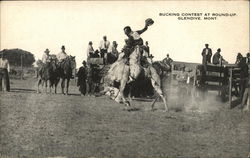
<svg viewBox="0 0 250 158">
<path fill-rule="evenodd" d="M 84 60 L 82 62 L 82 67 L 79 68 L 79 71 L 77 72 L 78 81 L 77 86 L 79 86 L 79 91 L 81 92 L 81 95 L 86 94 L 86 80 L 87 80 L 87 66 L 86 61 Z"/>
</svg>

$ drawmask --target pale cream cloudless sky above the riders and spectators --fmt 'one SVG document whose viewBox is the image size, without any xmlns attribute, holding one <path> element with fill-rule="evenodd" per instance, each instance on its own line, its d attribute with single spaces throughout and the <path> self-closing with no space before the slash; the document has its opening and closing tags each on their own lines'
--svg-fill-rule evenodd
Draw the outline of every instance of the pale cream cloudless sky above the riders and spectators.
<svg viewBox="0 0 250 158">
<path fill-rule="evenodd" d="M 169 54 L 176 61 L 201 63 L 205 43 L 213 54 L 221 48 L 230 63 L 238 52 L 249 52 L 249 1 L 0 1 L 0 9 L 1 50 L 20 48 L 41 59 L 46 48 L 57 54 L 65 45 L 78 67 L 89 41 L 97 49 L 106 35 L 121 50 L 123 28 L 140 30 L 147 18 L 154 24 L 141 37 L 149 42 L 154 60 Z M 231 16 L 203 20 L 205 13 Z M 174 14 L 202 20 L 178 20 Z"/>
</svg>

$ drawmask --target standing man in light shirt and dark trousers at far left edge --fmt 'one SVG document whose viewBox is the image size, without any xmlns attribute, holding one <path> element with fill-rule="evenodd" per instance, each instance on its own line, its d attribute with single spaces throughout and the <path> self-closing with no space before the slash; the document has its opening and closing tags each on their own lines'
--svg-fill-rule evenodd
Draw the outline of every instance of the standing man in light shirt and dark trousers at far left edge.
<svg viewBox="0 0 250 158">
<path fill-rule="evenodd" d="M 9 79 L 10 65 L 7 58 L 5 58 L 4 52 L 0 56 L 0 91 L 2 90 L 2 78 L 4 79 L 4 85 L 7 92 L 10 91 L 10 79 Z"/>
</svg>

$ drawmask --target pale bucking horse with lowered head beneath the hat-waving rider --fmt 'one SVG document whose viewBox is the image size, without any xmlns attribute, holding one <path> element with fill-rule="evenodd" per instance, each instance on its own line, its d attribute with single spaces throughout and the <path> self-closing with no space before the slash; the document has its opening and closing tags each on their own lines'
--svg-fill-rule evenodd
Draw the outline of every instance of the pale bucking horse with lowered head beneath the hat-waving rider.
<svg viewBox="0 0 250 158">
<path fill-rule="evenodd" d="M 136 46 L 134 51 L 129 56 L 130 58 L 129 65 L 126 64 L 126 59 L 122 58 L 123 55 L 124 55 L 123 53 L 119 55 L 118 60 L 111 65 L 108 74 L 106 76 L 107 80 L 109 80 L 111 85 L 112 82 L 114 81 L 120 83 L 119 93 L 116 96 L 115 101 L 118 103 L 124 103 L 126 106 L 130 106 L 129 101 L 124 96 L 125 86 L 131 82 L 130 80 L 131 78 L 136 80 L 139 74 L 143 74 L 144 77 L 147 77 L 151 80 L 153 88 L 162 98 L 165 105 L 164 111 L 168 111 L 166 99 L 162 91 L 161 78 L 157 73 L 156 69 L 153 67 L 152 64 L 149 64 L 147 68 L 140 66 L 140 58 L 141 58 L 140 47 Z M 155 101 L 158 99 L 158 97 L 156 97 L 151 104 L 152 110 L 154 110 L 154 104 Z"/>
</svg>

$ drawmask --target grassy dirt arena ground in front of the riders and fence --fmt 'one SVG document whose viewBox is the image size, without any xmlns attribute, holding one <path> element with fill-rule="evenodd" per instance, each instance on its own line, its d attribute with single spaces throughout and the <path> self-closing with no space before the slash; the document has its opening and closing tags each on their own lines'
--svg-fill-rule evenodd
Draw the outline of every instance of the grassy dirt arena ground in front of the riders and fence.
<svg viewBox="0 0 250 158">
<path fill-rule="evenodd" d="M 37 94 L 36 80 L 11 80 L 0 92 L 0 157 L 246 158 L 250 151 L 249 112 L 216 101 L 181 107 L 168 98 L 132 101 L 137 110 L 105 96 Z M 74 81 L 71 81 L 74 82 Z"/>
</svg>

